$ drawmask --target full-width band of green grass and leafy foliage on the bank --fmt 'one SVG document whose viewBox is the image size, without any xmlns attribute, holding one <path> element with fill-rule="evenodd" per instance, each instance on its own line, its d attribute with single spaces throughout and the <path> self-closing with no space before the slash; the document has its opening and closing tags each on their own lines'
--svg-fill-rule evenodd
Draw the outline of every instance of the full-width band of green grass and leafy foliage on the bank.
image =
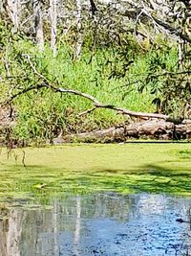
<svg viewBox="0 0 191 256">
<path fill-rule="evenodd" d="M 29 38 L 12 35 L 4 23 L 0 24 L 0 32 L 3 35 L 0 37 L 0 102 L 25 92 L 12 103 L 17 113 L 14 136 L 19 139 L 37 143 L 52 141 L 60 133 L 108 128 L 124 122 L 124 117 L 105 109 L 79 117 L 78 113 L 92 107 L 90 101 L 53 93 L 48 88 L 37 89 L 43 82 L 38 74 L 55 87 L 89 93 L 101 103 L 136 111 L 158 110 L 182 115 L 185 103 L 191 100 L 188 75 L 178 79 L 177 45 L 164 43 L 159 36 L 150 45 L 146 39 L 139 43 L 133 35 L 121 33 L 116 44 L 106 45 L 100 42 L 106 40 L 109 32 L 105 32 L 104 37 L 103 31 L 104 39 L 99 38 L 94 51 L 93 37 L 90 40 L 86 37 L 80 59 L 74 60 L 72 41 L 66 38 L 60 37 L 57 55 L 53 57 L 49 45 L 44 52 L 39 52 Z M 189 58 L 185 63 L 189 69 Z M 36 89 L 28 91 L 35 86 Z"/>
</svg>

